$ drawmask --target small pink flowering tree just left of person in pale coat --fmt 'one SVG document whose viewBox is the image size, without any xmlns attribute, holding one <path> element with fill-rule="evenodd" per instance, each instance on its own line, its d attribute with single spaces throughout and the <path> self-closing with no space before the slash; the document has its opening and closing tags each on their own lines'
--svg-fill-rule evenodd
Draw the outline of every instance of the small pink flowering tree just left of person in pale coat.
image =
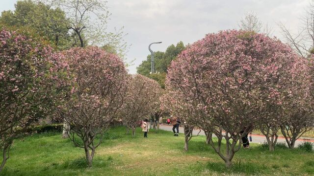
<svg viewBox="0 0 314 176">
<path fill-rule="evenodd" d="M 139 122 L 159 109 L 160 95 L 161 88 L 157 81 L 140 74 L 130 76 L 120 114 L 123 124 L 132 130 L 133 137 Z"/>
</svg>

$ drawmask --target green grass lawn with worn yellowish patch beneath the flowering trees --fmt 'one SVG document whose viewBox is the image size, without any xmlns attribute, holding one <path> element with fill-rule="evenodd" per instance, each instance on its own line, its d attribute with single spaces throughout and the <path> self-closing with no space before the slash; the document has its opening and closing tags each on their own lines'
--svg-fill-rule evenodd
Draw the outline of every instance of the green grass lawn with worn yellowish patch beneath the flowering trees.
<svg viewBox="0 0 314 176">
<path fill-rule="evenodd" d="M 204 136 L 193 137 L 188 152 L 183 152 L 183 135 L 175 137 L 172 132 L 151 130 L 143 138 L 137 129 L 132 138 L 124 127 L 116 127 L 105 138 L 96 149 L 92 168 L 85 167 L 84 150 L 62 139 L 61 133 L 16 140 L 0 176 L 314 175 L 314 153 L 297 149 L 270 153 L 252 144 L 235 154 L 234 166 L 227 170 Z"/>
</svg>

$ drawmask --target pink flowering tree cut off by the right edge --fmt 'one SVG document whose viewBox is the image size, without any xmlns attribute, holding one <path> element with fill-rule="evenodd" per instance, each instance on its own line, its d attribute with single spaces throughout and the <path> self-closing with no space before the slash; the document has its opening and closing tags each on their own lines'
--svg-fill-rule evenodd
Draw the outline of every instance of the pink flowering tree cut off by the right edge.
<svg viewBox="0 0 314 176">
<path fill-rule="evenodd" d="M 291 70 L 280 118 L 280 129 L 289 149 L 293 149 L 295 141 L 314 127 L 313 60 L 308 63 L 302 58 L 291 66 Z"/>
</svg>

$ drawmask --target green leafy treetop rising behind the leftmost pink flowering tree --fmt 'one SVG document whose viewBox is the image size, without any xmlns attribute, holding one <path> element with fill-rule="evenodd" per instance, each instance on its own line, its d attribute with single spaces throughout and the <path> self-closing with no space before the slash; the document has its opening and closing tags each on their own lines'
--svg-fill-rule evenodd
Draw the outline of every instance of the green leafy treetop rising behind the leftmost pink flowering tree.
<svg viewBox="0 0 314 176">
<path fill-rule="evenodd" d="M 31 0 L 19 0 L 15 10 L 1 12 L 0 25 L 6 28 L 27 28 L 49 41 L 59 50 L 75 46 L 75 38 L 71 37 L 66 14 L 60 8 L 35 3 Z M 34 36 L 36 37 L 36 36 Z"/>
</svg>

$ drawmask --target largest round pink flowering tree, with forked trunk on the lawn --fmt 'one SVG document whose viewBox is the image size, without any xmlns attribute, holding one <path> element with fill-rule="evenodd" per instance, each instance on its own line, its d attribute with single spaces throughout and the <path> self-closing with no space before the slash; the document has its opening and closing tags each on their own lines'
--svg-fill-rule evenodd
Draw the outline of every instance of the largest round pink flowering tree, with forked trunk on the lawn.
<svg viewBox="0 0 314 176">
<path fill-rule="evenodd" d="M 273 107 L 282 104 L 281 92 L 296 60 L 291 49 L 276 39 L 221 31 L 188 46 L 172 62 L 166 88 L 177 89 L 194 102 L 195 113 L 203 114 L 195 115 L 194 121 L 215 134 L 218 139 L 209 137 L 209 144 L 230 167 L 245 133 L 254 124 L 277 118 Z"/>
</svg>

